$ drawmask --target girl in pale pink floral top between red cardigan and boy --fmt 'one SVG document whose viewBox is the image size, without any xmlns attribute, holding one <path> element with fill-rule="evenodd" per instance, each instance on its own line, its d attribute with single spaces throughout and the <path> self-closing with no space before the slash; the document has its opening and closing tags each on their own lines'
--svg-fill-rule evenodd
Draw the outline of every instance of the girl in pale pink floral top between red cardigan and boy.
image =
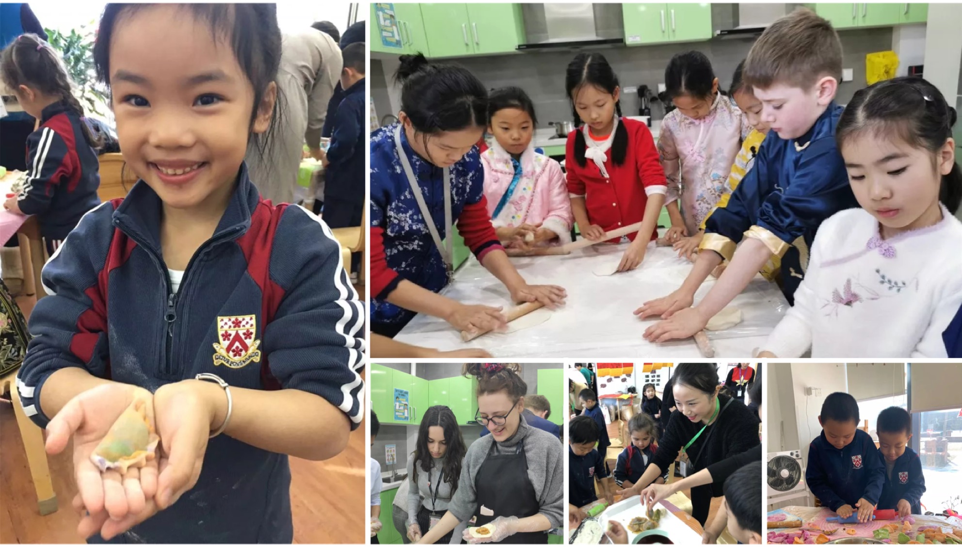
<svg viewBox="0 0 962 547">
<path fill-rule="evenodd" d="M 662 121 L 658 155 L 668 179 L 665 236 L 677 243 L 681 236 L 700 239 L 698 227 L 728 191 L 725 181 L 751 128 L 719 91 L 712 63 L 700 51 L 672 57 L 665 86 L 676 108 Z"/>
</svg>

